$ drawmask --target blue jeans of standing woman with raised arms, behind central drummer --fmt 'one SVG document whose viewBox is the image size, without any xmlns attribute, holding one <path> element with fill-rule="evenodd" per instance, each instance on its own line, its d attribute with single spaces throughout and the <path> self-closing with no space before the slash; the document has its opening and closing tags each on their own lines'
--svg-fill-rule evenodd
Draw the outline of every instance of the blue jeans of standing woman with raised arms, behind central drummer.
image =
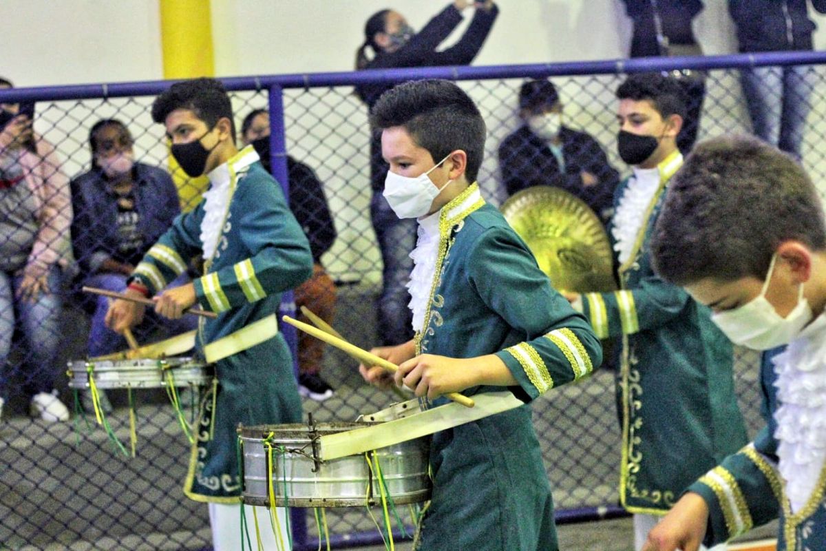
<svg viewBox="0 0 826 551">
<path fill-rule="evenodd" d="M 382 295 L 378 299 L 378 336 L 382 345 L 401 344 L 413 337 L 413 315 L 406 283 L 413 270 L 410 254 L 415 247 L 415 220 L 400 220 L 381 192 L 373 192 L 370 219 L 382 251 Z"/>
</svg>

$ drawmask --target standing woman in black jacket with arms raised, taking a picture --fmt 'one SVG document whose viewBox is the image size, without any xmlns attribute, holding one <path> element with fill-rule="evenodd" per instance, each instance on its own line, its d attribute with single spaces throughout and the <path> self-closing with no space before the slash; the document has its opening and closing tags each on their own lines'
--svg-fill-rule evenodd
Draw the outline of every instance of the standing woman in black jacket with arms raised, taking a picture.
<svg viewBox="0 0 826 551">
<path fill-rule="evenodd" d="M 471 6 L 476 7 L 476 12 L 462 38 L 447 50 L 436 51 L 462 22 L 461 12 Z M 415 33 L 401 13 L 389 9 L 376 12 L 364 26 L 364 43 L 356 54 L 356 69 L 469 64 L 482 48 L 498 14 L 499 8 L 492 0 L 455 0 Z M 373 59 L 368 59 L 368 49 L 373 51 Z M 356 93 L 372 108 L 378 97 L 393 86 L 366 84 L 356 88 Z M 373 190 L 370 219 L 376 230 L 384 266 L 378 328 L 381 344 L 385 345 L 405 342 L 413 335 L 411 313 L 407 308 L 410 296 L 405 283 L 413 269 L 413 261 L 408 254 L 415 246 L 416 232 L 415 220 L 397 218 L 382 197 L 386 175 L 387 163 L 382 159 L 382 142 L 380 136 L 373 135 L 370 140 L 370 184 Z"/>
</svg>

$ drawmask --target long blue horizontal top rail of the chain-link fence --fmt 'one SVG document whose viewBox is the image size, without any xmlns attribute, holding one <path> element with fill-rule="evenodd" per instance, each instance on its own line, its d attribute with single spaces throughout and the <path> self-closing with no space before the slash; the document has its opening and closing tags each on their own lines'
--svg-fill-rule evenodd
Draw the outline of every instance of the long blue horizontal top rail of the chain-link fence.
<svg viewBox="0 0 826 551">
<path fill-rule="evenodd" d="M 602 61 L 570 61 L 553 64 L 490 65 L 483 67 L 425 67 L 341 71 L 338 73 L 281 74 L 267 76 L 221 78 L 230 91 L 281 88 L 324 88 L 360 84 L 387 84 L 420 78 L 450 80 L 489 80 L 491 78 L 543 78 L 590 74 L 642 73 L 673 69 L 742 69 L 766 65 L 826 64 L 826 51 L 762 52 L 737 55 L 695 57 L 608 59 Z M 100 97 L 154 96 L 177 81 L 155 80 L 134 83 L 80 84 L 41 88 L 0 90 L 0 102 L 65 101 Z"/>
</svg>

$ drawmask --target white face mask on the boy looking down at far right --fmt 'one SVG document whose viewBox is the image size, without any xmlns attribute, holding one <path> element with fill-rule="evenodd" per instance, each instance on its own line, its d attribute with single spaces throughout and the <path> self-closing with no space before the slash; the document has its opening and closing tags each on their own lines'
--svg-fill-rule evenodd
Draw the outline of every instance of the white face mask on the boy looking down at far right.
<svg viewBox="0 0 826 551">
<path fill-rule="evenodd" d="M 788 316 L 781 317 L 771 302 L 766 300 L 766 290 L 774 271 L 776 256 L 771 257 L 769 273 L 763 283 L 760 295 L 743 306 L 711 315 L 711 321 L 729 337 L 734 344 L 755 350 L 768 350 L 788 344 L 814 316 L 809 301 L 803 297 L 803 283 L 797 297 L 797 306 Z"/>
</svg>

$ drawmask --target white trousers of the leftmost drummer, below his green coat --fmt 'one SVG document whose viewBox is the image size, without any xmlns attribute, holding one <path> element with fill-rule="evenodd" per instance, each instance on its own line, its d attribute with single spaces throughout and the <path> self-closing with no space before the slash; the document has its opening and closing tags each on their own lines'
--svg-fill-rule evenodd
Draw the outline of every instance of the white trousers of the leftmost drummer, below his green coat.
<svg viewBox="0 0 826 551">
<path fill-rule="evenodd" d="M 261 545 L 265 551 L 291 551 L 290 539 L 287 535 L 287 514 L 284 507 L 276 507 L 278 524 L 281 525 L 281 534 L 284 540 L 283 547 L 278 547 L 278 539 L 273 534 L 273 525 L 269 521 L 267 507 L 244 506 L 244 517 L 247 524 L 247 533 L 252 539 L 252 549 L 257 551 L 258 539 L 255 535 L 255 516 L 258 516 Z M 212 546 L 215 551 L 239 551 L 241 548 L 241 506 L 225 505 L 223 503 L 209 504 L 209 524 L 212 529 Z M 244 539 L 246 535 L 244 534 Z M 243 549 L 247 549 L 244 545 Z"/>
</svg>

